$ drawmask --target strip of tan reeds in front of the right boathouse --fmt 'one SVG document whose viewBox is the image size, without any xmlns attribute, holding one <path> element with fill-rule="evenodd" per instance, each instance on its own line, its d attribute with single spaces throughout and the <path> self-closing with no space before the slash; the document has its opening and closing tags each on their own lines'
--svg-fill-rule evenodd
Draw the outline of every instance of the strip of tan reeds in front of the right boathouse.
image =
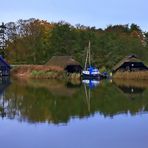
<svg viewBox="0 0 148 148">
<path fill-rule="evenodd" d="M 116 72 L 113 79 L 148 80 L 148 71 L 141 72 Z"/>
</svg>

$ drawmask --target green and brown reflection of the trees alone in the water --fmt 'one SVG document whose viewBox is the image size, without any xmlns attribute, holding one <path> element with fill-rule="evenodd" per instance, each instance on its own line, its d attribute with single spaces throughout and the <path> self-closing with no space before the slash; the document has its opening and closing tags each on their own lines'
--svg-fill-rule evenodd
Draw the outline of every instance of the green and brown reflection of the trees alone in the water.
<svg viewBox="0 0 148 148">
<path fill-rule="evenodd" d="M 60 89 L 65 92 L 73 92 L 69 95 L 56 94 L 51 84 L 43 82 L 17 82 L 6 90 L 5 101 L 8 102 L 7 117 L 17 118 L 28 122 L 49 122 L 67 123 L 73 117 L 83 118 L 95 112 L 100 112 L 104 116 L 112 117 L 120 113 L 137 114 L 139 111 L 148 109 L 148 91 L 145 90 L 143 97 L 136 96 L 134 100 L 120 91 L 113 84 L 101 83 L 101 85 L 91 90 L 90 112 L 84 102 L 84 87 L 66 88 L 60 82 Z M 35 84 L 35 85 L 34 85 Z M 38 85 L 37 85 L 38 84 Z M 57 84 L 58 85 L 58 84 Z M 53 86 L 55 87 L 55 86 Z M 63 87 L 63 88 L 62 88 Z M 59 91 L 56 89 L 56 91 Z M 85 100 L 86 101 L 86 100 Z"/>
</svg>

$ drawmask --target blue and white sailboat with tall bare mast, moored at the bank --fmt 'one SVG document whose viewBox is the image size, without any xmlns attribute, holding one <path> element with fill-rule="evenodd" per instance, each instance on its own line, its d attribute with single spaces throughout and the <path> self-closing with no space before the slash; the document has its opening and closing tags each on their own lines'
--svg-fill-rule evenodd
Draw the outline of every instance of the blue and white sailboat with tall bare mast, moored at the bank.
<svg viewBox="0 0 148 148">
<path fill-rule="evenodd" d="M 84 79 L 98 79 L 99 76 L 100 76 L 99 69 L 91 65 L 90 41 L 89 41 L 86 60 L 85 60 L 85 66 L 84 66 L 84 70 L 82 71 L 82 77 Z"/>
</svg>

